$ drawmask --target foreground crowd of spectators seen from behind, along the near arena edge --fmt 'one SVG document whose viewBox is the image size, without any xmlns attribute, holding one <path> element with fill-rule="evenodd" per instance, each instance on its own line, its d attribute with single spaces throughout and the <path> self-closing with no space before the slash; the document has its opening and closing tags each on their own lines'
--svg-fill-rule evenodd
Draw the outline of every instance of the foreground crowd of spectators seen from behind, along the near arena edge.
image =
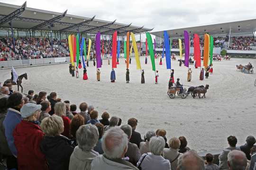
<svg viewBox="0 0 256 170">
<path fill-rule="evenodd" d="M 216 165 L 212 154 L 203 160 L 191 150 L 184 136 L 168 141 L 164 129 L 155 129 L 141 137 L 136 118 L 126 123 L 104 111 L 99 119 L 92 105 L 77 107 L 55 92 L 30 90 L 24 97 L 4 85 L 0 94 L 0 154 L 8 169 L 254 170 L 256 165 L 254 136 L 242 146 L 229 136 Z"/>
</svg>

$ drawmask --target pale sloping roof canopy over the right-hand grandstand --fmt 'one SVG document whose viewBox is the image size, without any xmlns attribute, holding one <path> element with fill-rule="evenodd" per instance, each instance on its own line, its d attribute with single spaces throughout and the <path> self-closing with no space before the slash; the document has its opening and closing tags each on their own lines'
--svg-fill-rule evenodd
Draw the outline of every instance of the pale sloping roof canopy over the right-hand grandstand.
<svg viewBox="0 0 256 170">
<path fill-rule="evenodd" d="M 239 33 L 253 33 L 254 31 L 256 31 L 256 19 L 228 22 L 222 24 L 211 24 L 205 26 L 178 28 L 167 30 L 167 33 L 169 34 L 169 36 L 174 38 L 183 37 L 184 30 L 187 30 L 191 36 L 193 34 L 198 34 L 201 36 L 207 33 L 210 35 L 218 35 L 229 34 L 230 28 L 231 35 Z M 159 37 L 164 37 L 164 31 L 151 32 L 151 34 Z"/>
</svg>

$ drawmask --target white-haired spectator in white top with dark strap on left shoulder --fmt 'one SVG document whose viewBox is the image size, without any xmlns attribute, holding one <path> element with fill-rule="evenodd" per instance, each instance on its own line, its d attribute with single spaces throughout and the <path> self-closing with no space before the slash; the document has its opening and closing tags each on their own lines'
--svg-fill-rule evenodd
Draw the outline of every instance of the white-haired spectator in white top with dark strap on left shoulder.
<svg viewBox="0 0 256 170">
<path fill-rule="evenodd" d="M 137 167 L 141 168 L 141 170 L 171 170 L 170 161 L 162 156 L 164 148 L 165 139 L 162 136 L 151 137 L 149 141 L 151 152 L 141 155 L 137 162 Z"/>
</svg>

